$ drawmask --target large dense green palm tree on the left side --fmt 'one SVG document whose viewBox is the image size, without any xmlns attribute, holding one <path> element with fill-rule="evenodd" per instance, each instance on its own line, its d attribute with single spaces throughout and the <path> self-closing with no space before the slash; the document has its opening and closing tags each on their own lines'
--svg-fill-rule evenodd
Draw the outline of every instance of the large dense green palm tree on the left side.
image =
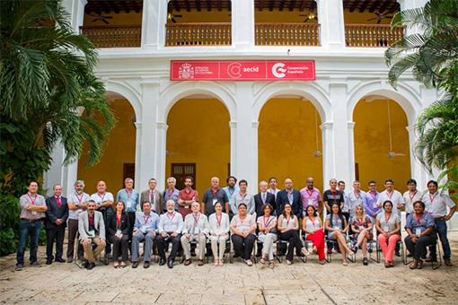
<svg viewBox="0 0 458 305">
<path fill-rule="evenodd" d="M 66 163 L 79 158 L 85 141 L 86 165 L 97 163 L 116 123 L 92 71 L 96 49 L 73 32 L 61 2 L 0 7 L 0 185 L 16 191 L 48 170 L 57 141 Z"/>
</svg>

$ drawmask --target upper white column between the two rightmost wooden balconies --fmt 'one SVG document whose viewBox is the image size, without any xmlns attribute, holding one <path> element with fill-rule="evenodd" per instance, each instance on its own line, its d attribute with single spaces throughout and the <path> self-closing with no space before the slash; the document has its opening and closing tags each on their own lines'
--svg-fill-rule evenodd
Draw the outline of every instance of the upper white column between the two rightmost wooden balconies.
<svg viewBox="0 0 458 305">
<path fill-rule="evenodd" d="M 316 0 L 321 46 L 345 48 L 345 22 L 342 0 Z"/>
</svg>

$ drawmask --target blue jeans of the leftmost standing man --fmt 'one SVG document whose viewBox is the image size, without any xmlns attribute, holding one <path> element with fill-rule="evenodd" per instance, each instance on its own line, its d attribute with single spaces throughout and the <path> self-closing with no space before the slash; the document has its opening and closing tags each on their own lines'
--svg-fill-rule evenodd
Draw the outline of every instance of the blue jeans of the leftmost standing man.
<svg viewBox="0 0 458 305">
<path fill-rule="evenodd" d="M 31 237 L 31 255 L 29 260 L 31 264 L 37 261 L 37 248 L 40 238 L 41 222 L 25 222 L 19 223 L 19 245 L 17 248 L 17 265 L 24 265 L 24 252 L 27 240 Z"/>
</svg>

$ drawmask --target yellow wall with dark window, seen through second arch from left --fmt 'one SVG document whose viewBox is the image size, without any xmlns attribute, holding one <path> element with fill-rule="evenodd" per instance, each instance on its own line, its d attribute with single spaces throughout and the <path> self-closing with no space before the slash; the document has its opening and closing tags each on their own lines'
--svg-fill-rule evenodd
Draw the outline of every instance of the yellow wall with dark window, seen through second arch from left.
<svg viewBox="0 0 458 305">
<path fill-rule="evenodd" d="M 218 177 L 225 187 L 228 163 L 231 161 L 229 113 L 216 99 L 182 99 L 167 118 L 166 178 L 172 163 L 196 163 L 196 186 L 199 199 L 210 187 L 210 179 Z M 249 181 L 250 182 L 250 181 Z"/>
</svg>

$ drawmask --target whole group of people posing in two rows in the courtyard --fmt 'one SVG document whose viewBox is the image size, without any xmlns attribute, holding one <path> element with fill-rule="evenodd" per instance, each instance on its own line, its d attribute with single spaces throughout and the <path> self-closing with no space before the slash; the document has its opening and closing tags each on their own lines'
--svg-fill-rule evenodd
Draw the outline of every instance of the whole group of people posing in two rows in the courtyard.
<svg viewBox="0 0 458 305">
<path fill-rule="evenodd" d="M 86 194 L 84 181 L 75 182 L 75 190 L 62 196 L 62 187 L 53 187 L 53 196 L 45 200 L 38 194 L 38 182 L 29 183 L 28 193 L 21 196 L 22 208 L 20 240 L 16 270 L 24 266 L 26 241 L 31 237 L 31 266 L 41 266 L 37 260 L 41 222 L 47 235 L 46 264 L 53 261 L 72 263 L 82 260 L 91 270 L 95 259 L 103 250 L 111 252 L 113 266 L 124 268 L 130 252 L 132 267 L 137 268 L 140 257 L 148 268 L 152 253 L 159 256 L 159 266 L 172 268 L 175 258 L 184 256 L 184 265 L 192 263 L 198 250 L 198 266 L 213 253 L 214 266 L 224 266 L 225 252 L 233 244 L 234 257 L 241 257 L 252 266 L 252 257 L 260 257 L 260 263 L 274 268 L 274 245 L 280 255 L 286 254 L 286 264 L 293 264 L 294 256 L 318 255 L 325 264 L 325 243 L 330 254 L 340 252 L 342 264 L 358 249 L 363 253 L 363 264 L 368 265 L 368 241 L 377 240 L 383 252 L 385 267 L 393 266 L 393 255 L 399 254 L 401 240 L 401 209 L 407 219 L 404 239 L 413 261 L 411 269 L 421 268 L 422 257 L 436 260 L 436 236 L 444 249 L 446 266 L 452 266 L 451 250 L 447 240 L 448 221 L 455 212 L 452 199 L 437 191 L 437 183 L 427 183 L 427 193 L 417 189 L 417 182 L 407 182 L 409 190 L 403 195 L 394 189 L 387 179 L 385 190 L 377 192 L 375 181 L 369 181 L 367 192 L 361 190 L 359 181 L 346 193 L 345 183 L 330 179 L 330 189 L 323 192 L 314 187 L 313 178 L 306 179 L 306 187 L 293 188 L 291 179 L 285 180 L 285 188 L 277 188 L 277 179 L 260 182 L 260 193 L 250 194 L 248 182 L 230 176 L 227 186 L 220 187 L 219 179 L 211 179 L 211 187 L 199 201 L 198 191 L 193 189 L 192 177 L 184 179 L 185 188 L 178 190 L 176 179 L 167 179 L 168 188 L 156 189 L 157 181 L 150 179 L 148 189 L 141 194 L 134 189 L 133 179 L 125 180 L 125 188 L 116 198 L 107 192 L 105 182 L 97 184 L 97 192 Z M 448 207 L 448 210 L 447 210 Z M 322 217 L 325 216 L 325 217 Z M 64 260 L 64 238 L 68 227 L 68 245 Z M 76 238 L 78 240 L 76 240 Z M 303 238 L 304 241 L 303 242 Z M 55 256 L 53 255 L 56 243 Z M 140 253 L 140 243 L 144 243 Z M 166 257 L 169 245 L 172 249 Z M 254 253 L 255 243 L 258 252 Z M 311 245 L 309 247 L 305 245 Z M 334 249 L 333 249 L 334 248 Z M 377 250 L 377 249 L 375 249 Z M 311 253 L 312 252 L 312 253 Z"/>
</svg>

